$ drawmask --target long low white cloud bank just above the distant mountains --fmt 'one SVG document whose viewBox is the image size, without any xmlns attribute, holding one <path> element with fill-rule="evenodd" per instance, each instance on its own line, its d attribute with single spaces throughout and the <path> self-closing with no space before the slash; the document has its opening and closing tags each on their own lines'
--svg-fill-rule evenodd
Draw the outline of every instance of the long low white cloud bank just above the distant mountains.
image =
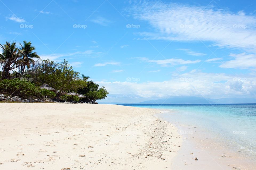
<svg viewBox="0 0 256 170">
<path fill-rule="evenodd" d="M 136 76 L 134 76 L 136 77 Z M 202 73 L 192 71 L 173 75 L 162 82 L 96 82 L 106 87 L 113 101 L 129 96 L 131 101 L 167 98 L 170 96 L 200 96 L 207 98 L 252 97 L 256 94 L 255 75 L 228 75 L 223 73 Z M 132 80 L 132 79 L 131 79 Z M 123 89 L 126 89 L 125 91 Z M 125 102 L 127 99 L 123 99 Z"/>
</svg>

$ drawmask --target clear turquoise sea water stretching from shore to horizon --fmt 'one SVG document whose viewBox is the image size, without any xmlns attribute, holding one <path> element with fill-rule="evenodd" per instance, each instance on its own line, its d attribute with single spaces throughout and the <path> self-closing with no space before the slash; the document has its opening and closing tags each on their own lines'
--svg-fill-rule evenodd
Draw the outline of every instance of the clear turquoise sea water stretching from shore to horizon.
<svg viewBox="0 0 256 170">
<path fill-rule="evenodd" d="M 163 104 L 126 105 L 172 110 L 163 118 L 176 125 L 191 127 L 184 133 L 197 133 L 256 158 L 256 104 Z M 179 128 L 179 127 L 178 127 Z"/>
</svg>

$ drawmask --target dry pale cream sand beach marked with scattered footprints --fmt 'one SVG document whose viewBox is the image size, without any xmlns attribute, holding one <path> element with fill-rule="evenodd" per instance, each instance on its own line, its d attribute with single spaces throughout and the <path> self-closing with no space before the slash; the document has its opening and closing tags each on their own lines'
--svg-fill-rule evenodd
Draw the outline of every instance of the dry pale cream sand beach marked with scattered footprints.
<svg viewBox="0 0 256 170">
<path fill-rule="evenodd" d="M 170 169 L 182 136 L 158 110 L 0 103 L 0 169 Z"/>
</svg>

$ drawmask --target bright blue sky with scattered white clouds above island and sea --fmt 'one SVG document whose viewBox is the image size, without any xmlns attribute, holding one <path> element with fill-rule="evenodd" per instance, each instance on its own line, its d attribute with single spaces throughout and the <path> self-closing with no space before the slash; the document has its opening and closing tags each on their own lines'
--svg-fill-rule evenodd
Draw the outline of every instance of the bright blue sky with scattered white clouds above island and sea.
<svg viewBox="0 0 256 170">
<path fill-rule="evenodd" d="M 256 98 L 256 1 L 0 0 L 0 44 L 31 41 L 109 95 Z"/>
</svg>

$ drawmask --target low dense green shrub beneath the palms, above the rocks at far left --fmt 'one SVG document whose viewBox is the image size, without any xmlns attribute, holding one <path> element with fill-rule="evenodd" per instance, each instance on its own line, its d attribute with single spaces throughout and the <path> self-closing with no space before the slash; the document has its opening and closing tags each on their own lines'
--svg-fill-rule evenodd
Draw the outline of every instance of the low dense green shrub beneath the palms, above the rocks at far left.
<svg viewBox="0 0 256 170">
<path fill-rule="evenodd" d="M 29 81 L 19 79 L 3 79 L 0 82 L 0 94 L 19 96 L 26 99 L 29 97 L 42 98 L 39 87 Z"/>
</svg>

